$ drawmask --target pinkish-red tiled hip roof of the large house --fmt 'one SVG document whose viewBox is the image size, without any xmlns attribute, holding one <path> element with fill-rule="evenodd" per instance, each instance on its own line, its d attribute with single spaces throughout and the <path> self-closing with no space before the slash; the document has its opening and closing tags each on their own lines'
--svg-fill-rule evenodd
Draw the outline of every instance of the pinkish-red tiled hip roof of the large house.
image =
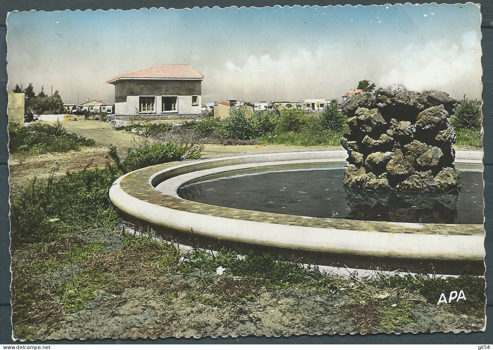
<svg viewBox="0 0 493 350">
<path fill-rule="evenodd" d="M 106 83 L 120 79 L 204 79 L 204 75 L 188 65 L 156 65 L 114 76 Z"/>
</svg>

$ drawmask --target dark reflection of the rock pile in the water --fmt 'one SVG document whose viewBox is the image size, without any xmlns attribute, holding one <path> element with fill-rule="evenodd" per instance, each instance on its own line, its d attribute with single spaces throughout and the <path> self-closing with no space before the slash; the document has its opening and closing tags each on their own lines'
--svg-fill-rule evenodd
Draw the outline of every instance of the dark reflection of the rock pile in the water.
<svg viewBox="0 0 493 350">
<path fill-rule="evenodd" d="M 453 224 L 457 218 L 458 191 L 400 193 L 346 187 L 346 193 L 348 219 Z"/>
</svg>

